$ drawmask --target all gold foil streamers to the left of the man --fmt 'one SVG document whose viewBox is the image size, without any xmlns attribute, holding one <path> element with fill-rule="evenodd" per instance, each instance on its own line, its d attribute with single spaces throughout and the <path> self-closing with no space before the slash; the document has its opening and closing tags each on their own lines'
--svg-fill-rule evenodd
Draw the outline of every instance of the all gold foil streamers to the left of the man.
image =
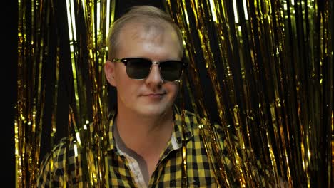
<svg viewBox="0 0 334 188">
<path fill-rule="evenodd" d="M 89 179 L 87 186 L 106 187 L 108 182 L 106 182 L 107 174 L 104 164 L 104 155 L 106 155 L 104 145 L 107 142 L 108 123 L 107 105 L 105 105 L 107 104 L 107 91 L 106 85 L 103 85 L 105 83 L 103 63 L 108 51 L 105 44 L 106 33 L 113 22 L 115 1 L 68 0 L 64 3 L 66 4 L 64 15 L 68 23 L 74 87 L 74 103 L 69 104 L 69 125 L 66 132 L 70 137 L 70 132 L 74 129 L 76 148 L 82 147 L 87 151 L 87 155 L 83 156 L 86 158 L 83 160 L 88 164 L 88 168 L 83 169 Z M 61 84 L 59 80 L 59 38 L 61 36 L 59 33 L 54 32 L 57 38 L 56 58 L 51 61 L 48 59 L 50 56 L 48 45 L 51 34 L 54 34 L 49 27 L 51 22 L 57 21 L 56 14 L 59 14 L 57 11 L 60 10 L 60 4 L 58 1 L 19 1 L 19 95 L 14 123 L 17 187 L 34 187 L 36 184 L 35 174 L 39 169 L 42 123 L 46 122 L 43 113 L 45 111 L 44 98 L 47 92 L 46 84 L 50 84 L 46 81 L 48 74 L 54 76 L 54 88 L 51 89 L 51 93 L 54 94 L 49 124 L 51 125 L 51 147 L 56 139 L 56 116 L 59 113 L 58 86 Z M 79 29 L 82 27 L 85 29 Z M 83 48 L 84 39 L 86 39 L 87 48 Z M 46 67 L 50 66 L 54 66 L 51 68 L 51 71 L 54 72 L 46 73 Z M 88 76 L 85 75 L 85 68 L 88 68 Z M 67 95 L 71 97 L 70 93 Z M 91 98 L 91 103 L 88 103 L 89 98 Z M 93 148 L 92 145 L 101 147 Z M 92 152 L 96 152 L 98 156 L 93 157 Z M 67 172 L 65 173 L 66 178 L 71 178 Z"/>
</svg>

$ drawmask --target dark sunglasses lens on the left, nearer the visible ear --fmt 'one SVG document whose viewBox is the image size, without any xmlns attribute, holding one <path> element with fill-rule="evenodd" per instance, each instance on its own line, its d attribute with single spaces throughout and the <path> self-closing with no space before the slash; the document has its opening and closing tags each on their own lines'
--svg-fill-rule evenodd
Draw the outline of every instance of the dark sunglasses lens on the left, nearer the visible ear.
<svg viewBox="0 0 334 188">
<path fill-rule="evenodd" d="M 126 73 L 132 79 L 143 79 L 150 73 L 152 62 L 141 58 L 129 58 L 127 60 Z"/>
</svg>

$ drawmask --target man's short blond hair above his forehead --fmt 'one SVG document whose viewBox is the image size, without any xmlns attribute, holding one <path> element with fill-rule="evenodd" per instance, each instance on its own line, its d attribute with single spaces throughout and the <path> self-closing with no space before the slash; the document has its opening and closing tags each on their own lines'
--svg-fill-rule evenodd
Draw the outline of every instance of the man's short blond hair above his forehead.
<svg viewBox="0 0 334 188">
<path fill-rule="evenodd" d="M 119 34 L 128 23 L 141 23 L 144 27 L 161 26 L 161 23 L 169 24 L 178 35 L 181 54 L 183 53 L 183 38 L 180 28 L 174 23 L 171 16 L 154 6 L 133 6 L 130 11 L 117 19 L 111 26 L 106 44 L 108 46 L 108 58 L 116 58 Z M 181 55 L 182 56 L 182 55 Z"/>
</svg>

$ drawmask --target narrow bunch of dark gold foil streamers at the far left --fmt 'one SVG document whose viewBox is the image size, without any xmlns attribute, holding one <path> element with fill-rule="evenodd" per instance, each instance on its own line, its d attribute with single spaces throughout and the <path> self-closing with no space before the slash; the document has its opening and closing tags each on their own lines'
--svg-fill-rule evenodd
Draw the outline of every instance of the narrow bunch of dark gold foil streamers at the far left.
<svg viewBox="0 0 334 188">
<path fill-rule="evenodd" d="M 45 62 L 49 35 L 47 2 L 19 1 L 18 98 L 15 117 L 17 187 L 34 186 L 39 166 L 41 125 L 44 117 Z"/>
</svg>

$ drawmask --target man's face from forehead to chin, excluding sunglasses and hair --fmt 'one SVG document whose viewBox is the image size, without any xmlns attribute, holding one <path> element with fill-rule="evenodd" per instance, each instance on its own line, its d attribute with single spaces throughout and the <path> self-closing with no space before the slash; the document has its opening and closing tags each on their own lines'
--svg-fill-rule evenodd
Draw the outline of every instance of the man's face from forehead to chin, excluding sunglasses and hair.
<svg viewBox="0 0 334 188">
<path fill-rule="evenodd" d="M 151 61 L 181 60 L 181 48 L 171 26 L 143 28 L 139 24 L 122 28 L 115 58 L 148 58 Z M 110 62 L 109 62 L 110 63 Z M 143 80 L 126 74 L 124 63 L 113 64 L 113 81 L 117 88 L 118 110 L 147 117 L 171 113 L 178 94 L 178 82 L 161 78 L 157 65 Z"/>
</svg>

